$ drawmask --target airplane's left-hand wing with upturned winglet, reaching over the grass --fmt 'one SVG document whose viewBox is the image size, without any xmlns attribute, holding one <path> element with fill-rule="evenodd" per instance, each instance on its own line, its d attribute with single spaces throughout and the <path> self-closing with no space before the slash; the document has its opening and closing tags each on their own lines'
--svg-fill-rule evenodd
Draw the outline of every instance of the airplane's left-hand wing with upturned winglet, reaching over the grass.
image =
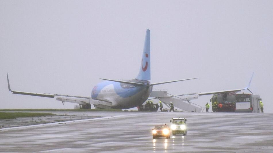
<svg viewBox="0 0 273 153">
<path fill-rule="evenodd" d="M 70 102 L 70 103 L 78 103 L 81 105 L 85 105 L 86 103 L 90 103 L 90 104 L 94 104 L 94 105 L 107 104 L 107 106 L 110 106 L 110 107 L 112 105 L 111 101 L 109 101 L 107 99 L 98 99 L 98 98 L 82 97 L 82 96 L 59 95 L 59 94 L 51 94 L 51 93 L 34 93 L 34 92 L 24 92 L 24 91 L 13 91 L 10 89 L 8 74 L 7 74 L 7 84 L 8 84 L 9 91 L 11 91 L 14 94 L 48 97 L 48 98 L 55 98 L 56 97 L 56 100 L 62 101 L 63 104 L 66 101 L 66 102 Z"/>
</svg>

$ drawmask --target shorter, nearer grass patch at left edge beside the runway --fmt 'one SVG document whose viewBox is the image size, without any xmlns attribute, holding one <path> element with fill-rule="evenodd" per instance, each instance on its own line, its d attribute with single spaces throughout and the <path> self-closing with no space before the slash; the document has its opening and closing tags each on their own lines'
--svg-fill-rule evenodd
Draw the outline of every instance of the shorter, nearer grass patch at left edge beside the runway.
<svg viewBox="0 0 273 153">
<path fill-rule="evenodd" d="M 16 119 L 17 117 L 53 116 L 52 113 L 0 112 L 0 119 Z"/>
</svg>

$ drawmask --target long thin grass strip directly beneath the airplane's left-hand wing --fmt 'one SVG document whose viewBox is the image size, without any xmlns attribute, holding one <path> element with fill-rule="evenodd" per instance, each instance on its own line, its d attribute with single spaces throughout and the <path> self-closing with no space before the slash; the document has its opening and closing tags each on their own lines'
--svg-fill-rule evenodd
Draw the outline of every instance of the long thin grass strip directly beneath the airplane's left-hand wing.
<svg viewBox="0 0 273 153">
<path fill-rule="evenodd" d="M 121 109 L 0 109 L 0 111 L 122 111 Z"/>
</svg>

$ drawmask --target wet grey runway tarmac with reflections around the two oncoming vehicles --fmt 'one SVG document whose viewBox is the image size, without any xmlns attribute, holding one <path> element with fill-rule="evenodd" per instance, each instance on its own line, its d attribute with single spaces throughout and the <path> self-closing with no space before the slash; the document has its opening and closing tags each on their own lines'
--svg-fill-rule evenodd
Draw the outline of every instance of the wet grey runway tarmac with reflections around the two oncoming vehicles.
<svg viewBox="0 0 273 153">
<path fill-rule="evenodd" d="M 273 152 L 272 113 L 84 112 L 104 118 L 0 132 L 1 152 Z M 187 136 L 152 139 L 187 119 Z"/>
</svg>

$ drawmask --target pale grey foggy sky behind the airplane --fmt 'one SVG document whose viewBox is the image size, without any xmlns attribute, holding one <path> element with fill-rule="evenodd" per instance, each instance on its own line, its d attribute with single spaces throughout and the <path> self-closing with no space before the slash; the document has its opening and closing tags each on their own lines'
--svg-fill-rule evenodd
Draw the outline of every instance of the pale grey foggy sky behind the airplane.
<svg viewBox="0 0 273 153">
<path fill-rule="evenodd" d="M 73 109 L 12 90 L 91 96 L 132 79 L 151 30 L 151 83 L 173 95 L 238 89 L 273 112 L 273 1 L 0 1 L 0 109 Z M 247 91 L 244 91 L 248 93 Z M 205 107 L 211 95 L 192 100 Z M 211 111 L 211 109 L 210 109 Z"/>
</svg>

